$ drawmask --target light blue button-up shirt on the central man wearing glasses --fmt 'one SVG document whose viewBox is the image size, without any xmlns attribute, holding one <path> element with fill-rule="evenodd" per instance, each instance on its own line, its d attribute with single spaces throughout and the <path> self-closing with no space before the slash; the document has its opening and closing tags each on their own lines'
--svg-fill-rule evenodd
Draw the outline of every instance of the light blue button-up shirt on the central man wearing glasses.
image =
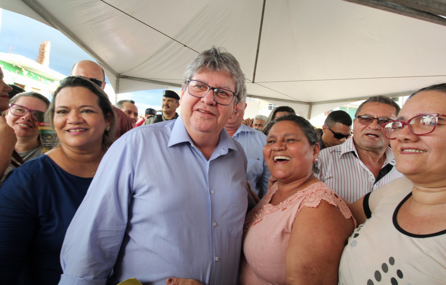
<svg viewBox="0 0 446 285">
<path fill-rule="evenodd" d="M 209 160 L 181 117 L 140 126 L 104 155 L 65 236 L 59 284 L 168 277 L 235 285 L 247 161 L 226 130 Z"/>
</svg>

